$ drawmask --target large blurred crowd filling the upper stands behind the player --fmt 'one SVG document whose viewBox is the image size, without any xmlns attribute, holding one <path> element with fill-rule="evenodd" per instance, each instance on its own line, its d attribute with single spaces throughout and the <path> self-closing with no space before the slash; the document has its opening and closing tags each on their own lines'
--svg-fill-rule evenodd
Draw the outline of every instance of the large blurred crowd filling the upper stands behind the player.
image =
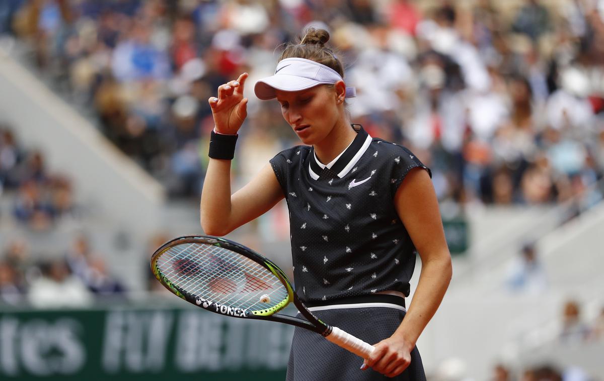
<svg viewBox="0 0 604 381">
<path fill-rule="evenodd" d="M 12 0 L 0 25 L 43 73 L 91 107 L 104 134 L 197 197 L 207 99 L 250 73 L 234 175 L 297 144 L 276 102 L 252 95 L 278 45 L 327 28 L 358 97 L 353 122 L 432 168 L 442 202 L 602 198 L 604 5 L 600 0 Z"/>
</svg>

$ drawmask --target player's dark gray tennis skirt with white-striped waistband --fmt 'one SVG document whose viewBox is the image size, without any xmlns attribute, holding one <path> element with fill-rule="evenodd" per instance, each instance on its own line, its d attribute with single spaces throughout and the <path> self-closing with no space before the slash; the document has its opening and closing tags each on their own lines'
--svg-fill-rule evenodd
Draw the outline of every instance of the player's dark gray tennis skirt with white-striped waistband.
<svg viewBox="0 0 604 381">
<path fill-rule="evenodd" d="M 339 327 L 369 344 L 390 337 L 399 327 L 405 308 L 390 303 L 356 303 L 310 307 L 327 324 Z M 298 313 L 300 315 L 300 313 Z M 298 316 L 300 317 L 300 316 Z M 360 370 L 363 359 L 310 330 L 296 327 L 289 354 L 287 381 L 425 381 L 417 347 L 411 365 L 397 377 L 386 377 L 371 368 Z"/>
</svg>

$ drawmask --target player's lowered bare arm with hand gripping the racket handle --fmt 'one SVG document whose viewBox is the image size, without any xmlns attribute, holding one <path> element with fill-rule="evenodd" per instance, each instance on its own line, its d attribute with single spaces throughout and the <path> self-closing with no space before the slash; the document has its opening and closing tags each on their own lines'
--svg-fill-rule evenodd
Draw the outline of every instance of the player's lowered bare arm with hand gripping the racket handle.
<svg viewBox="0 0 604 381">
<path fill-rule="evenodd" d="M 451 254 L 428 172 L 411 169 L 397 189 L 394 205 L 422 259 L 422 272 L 403 322 L 390 338 L 375 345 L 377 350 L 365 361 L 388 377 L 409 366 L 417 338 L 438 309 L 452 276 Z"/>
</svg>

